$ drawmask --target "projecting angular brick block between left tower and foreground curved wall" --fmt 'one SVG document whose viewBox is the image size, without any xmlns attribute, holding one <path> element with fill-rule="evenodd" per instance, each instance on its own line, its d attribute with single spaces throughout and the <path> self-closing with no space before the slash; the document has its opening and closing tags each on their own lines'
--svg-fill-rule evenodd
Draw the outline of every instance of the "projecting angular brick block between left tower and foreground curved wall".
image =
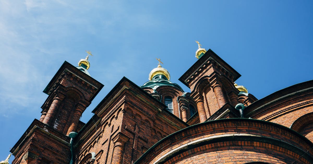
<svg viewBox="0 0 313 164">
<path fill-rule="evenodd" d="M 91 152 L 96 154 L 95 163 L 111 163 L 113 160 L 132 163 L 157 141 L 188 126 L 161 110 L 165 108 L 164 104 L 127 80 L 116 87 L 114 90 L 119 92 L 112 91 L 96 110 L 99 120 L 90 121 L 79 133 L 76 163 Z M 115 146 L 117 134 L 123 136 L 118 148 Z M 117 152 L 117 149 L 121 151 Z M 114 152 L 120 155 L 119 159 Z"/>
</svg>

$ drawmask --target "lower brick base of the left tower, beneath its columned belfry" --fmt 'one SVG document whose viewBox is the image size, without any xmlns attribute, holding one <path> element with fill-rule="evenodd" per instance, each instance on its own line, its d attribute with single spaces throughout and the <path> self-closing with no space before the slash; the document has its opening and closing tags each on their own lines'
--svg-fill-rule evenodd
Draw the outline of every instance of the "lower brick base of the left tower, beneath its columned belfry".
<svg viewBox="0 0 313 164">
<path fill-rule="evenodd" d="M 26 137 L 28 136 L 28 137 Z M 69 163 L 69 137 L 57 132 L 46 124 L 34 120 L 22 138 L 14 145 L 12 164 L 40 163 Z"/>
</svg>

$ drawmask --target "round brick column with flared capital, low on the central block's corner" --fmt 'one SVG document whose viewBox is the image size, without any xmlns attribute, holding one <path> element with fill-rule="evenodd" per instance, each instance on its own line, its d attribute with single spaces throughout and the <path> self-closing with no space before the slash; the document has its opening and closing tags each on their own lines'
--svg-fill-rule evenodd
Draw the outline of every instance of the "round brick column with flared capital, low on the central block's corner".
<svg viewBox="0 0 313 164">
<path fill-rule="evenodd" d="M 113 138 L 114 143 L 113 157 L 111 164 L 121 164 L 123 163 L 124 147 L 125 143 L 129 140 L 124 134 L 118 133 Z"/>
</svg>

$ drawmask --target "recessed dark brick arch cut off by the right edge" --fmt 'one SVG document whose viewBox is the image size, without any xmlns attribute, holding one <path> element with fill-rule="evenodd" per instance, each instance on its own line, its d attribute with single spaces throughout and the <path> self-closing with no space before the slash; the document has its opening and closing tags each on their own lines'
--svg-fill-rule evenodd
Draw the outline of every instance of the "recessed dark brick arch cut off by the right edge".
<svg viewBox="0 0 313 164">
<path fill-rule="evenodd" d="M 296 119 L 290 128 L 313 142 L 313 112 L 307 113 Z"/>
</svg>

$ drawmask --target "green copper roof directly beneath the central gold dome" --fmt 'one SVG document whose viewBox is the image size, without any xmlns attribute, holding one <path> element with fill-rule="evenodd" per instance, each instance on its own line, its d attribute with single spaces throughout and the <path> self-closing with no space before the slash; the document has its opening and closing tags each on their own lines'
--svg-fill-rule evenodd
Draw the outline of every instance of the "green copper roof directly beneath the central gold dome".
<svg viewBox="0 0 313 164">
<path fill-rule="evenodd" d="M 178 84 L 176 83 L 172 83 L 171 81 L 169 81 L 164 75 L 155 75 L 152 80 L 146 82 L 145 84 L 143 84 L 142 86 L 140 86 L 140 88 L 144 88 L 144 87 L 149 87 L 152 88 L 153 90 L 155 90 L 157 87 L 159 86 L 173 86 L 178 88 L 179 90 L 181 90 L 182 92 L 184 92 L 182 90 L 182 87 L 180 87 Z"/>
</svg>

